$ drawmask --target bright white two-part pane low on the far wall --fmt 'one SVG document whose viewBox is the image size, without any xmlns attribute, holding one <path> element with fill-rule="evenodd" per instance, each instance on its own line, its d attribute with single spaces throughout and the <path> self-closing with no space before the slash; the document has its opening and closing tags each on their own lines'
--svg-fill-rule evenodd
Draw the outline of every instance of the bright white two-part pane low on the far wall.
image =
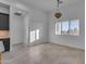
<svg viewBox="0 0 86 64">
<path fill-rule="evenodd" d="M 30 31 L 29 42 L 34 42 L 39 39 L 39 29 Z"/>
</svg>

